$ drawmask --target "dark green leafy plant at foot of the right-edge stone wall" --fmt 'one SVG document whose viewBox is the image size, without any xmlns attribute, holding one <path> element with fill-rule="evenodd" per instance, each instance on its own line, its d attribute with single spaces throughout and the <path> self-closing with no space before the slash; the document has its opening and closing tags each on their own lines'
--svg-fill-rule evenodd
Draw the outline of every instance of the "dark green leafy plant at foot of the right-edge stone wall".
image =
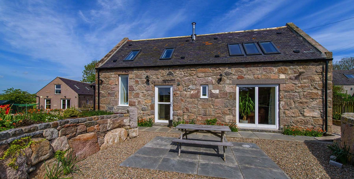
<svg viewBox="0 0 354 179">
<path fill-rule="evenodd" d="M 344 143 L 344 147 L 341 148 L 341 146 L 338 143 L 332 142 L 333 145 L 328 145 L 327 147 L 332 151 L 331 155 L 336 156 L 336 161 L 340 162 L 344 165 L 347 164 L 348 159 L 353 155 L 349 153 L 350 146 L 346 145 Z"/>
</svg>

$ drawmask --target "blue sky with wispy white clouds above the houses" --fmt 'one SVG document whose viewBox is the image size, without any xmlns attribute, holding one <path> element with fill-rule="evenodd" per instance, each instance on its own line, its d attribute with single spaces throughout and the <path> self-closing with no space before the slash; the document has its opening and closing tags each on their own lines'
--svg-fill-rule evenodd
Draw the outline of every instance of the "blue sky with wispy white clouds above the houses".
<svg viewBox="0 0 354 179">
<path fill-rule="evenodd" d="M 301 29 L 354 17 L 354 3 L 324 0 L 0 0 L 0 90 L 36 93 L 55 77 L 80 80 L 122 38 L 262 29 Z M 354 47 L 354 19 L 306 30 L 333 53 Z M 354 56 L 354 48 L 333 55 Z"/>
</svg>

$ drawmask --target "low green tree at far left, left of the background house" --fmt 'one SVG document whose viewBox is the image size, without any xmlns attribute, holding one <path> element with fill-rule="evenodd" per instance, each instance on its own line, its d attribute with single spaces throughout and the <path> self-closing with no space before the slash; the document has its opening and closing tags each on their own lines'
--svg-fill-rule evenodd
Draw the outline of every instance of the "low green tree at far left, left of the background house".
<svg viewBox="0 0 354 179">
<path fill-rule="evenodd" d="M 12 100 L 17 104 L 31 104 L 36 102 L 36 94 L 30 94 L 21 89 L 9 88 L 0 94 L 0 100 Z"/>
</svg>

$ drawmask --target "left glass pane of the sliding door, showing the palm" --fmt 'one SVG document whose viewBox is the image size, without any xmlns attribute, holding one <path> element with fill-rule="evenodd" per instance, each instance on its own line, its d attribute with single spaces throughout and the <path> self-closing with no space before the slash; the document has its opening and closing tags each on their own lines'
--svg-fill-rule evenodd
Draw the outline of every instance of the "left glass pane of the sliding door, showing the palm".
<svg viewBox="0 0 354 179">
<path fill-rule="evenodd" d="M 255 89 L 255 87 L 239 87 L 239 123 L 256 123 Z"/>
</svg>

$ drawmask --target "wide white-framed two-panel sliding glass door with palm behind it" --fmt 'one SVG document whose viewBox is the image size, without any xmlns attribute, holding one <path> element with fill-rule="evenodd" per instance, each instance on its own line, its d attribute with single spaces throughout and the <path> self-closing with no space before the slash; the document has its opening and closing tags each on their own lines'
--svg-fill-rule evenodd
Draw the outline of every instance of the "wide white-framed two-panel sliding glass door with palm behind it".
<svg viewBox="0 0 354 179">
<path fill-rule="evenodd" d="M 237 123 L 240 127 L 278 129 L 278 86 L 236 86 Z"/>
</svg>

